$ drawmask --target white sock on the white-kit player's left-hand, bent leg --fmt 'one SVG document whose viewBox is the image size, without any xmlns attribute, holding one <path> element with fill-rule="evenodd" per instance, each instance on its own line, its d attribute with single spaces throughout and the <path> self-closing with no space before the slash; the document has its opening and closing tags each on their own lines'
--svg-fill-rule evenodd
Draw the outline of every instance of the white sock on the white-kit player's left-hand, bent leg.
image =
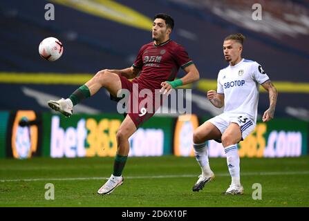
<svg viewBox="0 0 309 221">
<path fill-rule="evenodd" d="M 193 144 L 193 147 L 194 147 L 194 155 L 196 157 L 196 161 L 200 165 L 203 175 L 205 177 L 212 175 L 212 170 L 210 169 L 210 166 L 209 166 L 208 148 L 206 146 L 206 143 Z"/>
</svg>

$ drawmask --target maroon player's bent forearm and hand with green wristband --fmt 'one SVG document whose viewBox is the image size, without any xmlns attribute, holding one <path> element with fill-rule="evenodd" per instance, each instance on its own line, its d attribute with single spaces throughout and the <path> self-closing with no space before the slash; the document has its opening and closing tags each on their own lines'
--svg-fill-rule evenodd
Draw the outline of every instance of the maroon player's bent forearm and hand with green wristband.
<svg viewBox="0 0 309 221">
<path fill-rule="evenodd" d="M 187 73 L 184 77 L 178 79 L 182 82 L 181 85 L 190 84 L 194 81 L 198 81 L 200 79 L 200 73 L 198 73 L 198 69 L 194 64 L 191 64 L 187 67 L 185 67 L 183 70 L 185 70 L 185 73 Z M 177 81 L 177 80 L 176 80 Z M 173 83 L 174 81 L 168 82 L 162 82 L 161 83 L 161 90 L 160 92 L 170 93 L 172 88 L 176 88 L 178 85 Z"/>
</svg>

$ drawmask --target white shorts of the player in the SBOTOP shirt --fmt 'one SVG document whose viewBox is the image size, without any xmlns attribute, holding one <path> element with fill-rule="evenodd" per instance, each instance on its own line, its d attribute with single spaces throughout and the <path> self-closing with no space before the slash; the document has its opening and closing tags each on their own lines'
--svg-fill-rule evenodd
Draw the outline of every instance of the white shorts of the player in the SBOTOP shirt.
<svg viewBox="0 0 309 221">
<path fill-rule="evenodd" d="M 230 126 L 231 123 L 238 124 L 241 127 L 241 140 L 245 139 L 247 135 L 250 135 L 250 133 L 254 130 L 256 126 L 254 120 L 250 119 L 250 117 L 248 117 L 247 115 L 242 114 L 237 115 L 222 113 L 221 115 L 207 120 L 207 122 L 214 124 L 214 126 L 219 129 L 221 134 L 224 133 L 224 131 L 227 129 L 228 126 Z"/>
</svg>

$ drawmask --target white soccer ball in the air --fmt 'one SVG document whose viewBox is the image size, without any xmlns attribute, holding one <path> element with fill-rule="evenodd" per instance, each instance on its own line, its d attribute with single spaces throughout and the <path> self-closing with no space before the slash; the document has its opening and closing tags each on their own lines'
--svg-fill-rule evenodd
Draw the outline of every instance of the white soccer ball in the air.
<svg viewBox="0 0 309 221">
<path fill-rule="evenodd" d="M 48 61 L 55 61 L 62 56 L 64 47 L 55 37 L 48 37 L 39 44 L 39 55 Z"/>
</svg>

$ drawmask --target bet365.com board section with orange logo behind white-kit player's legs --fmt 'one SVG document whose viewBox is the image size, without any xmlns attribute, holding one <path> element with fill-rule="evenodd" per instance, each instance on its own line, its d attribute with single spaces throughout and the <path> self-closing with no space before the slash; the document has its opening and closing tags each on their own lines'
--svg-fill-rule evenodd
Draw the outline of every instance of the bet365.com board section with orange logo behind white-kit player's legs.
<svg viewBox="0 0 309 221">
<path fill-rule="evenodd" d="M 207 117 L 199 120 L 199 125 Z M 198 119 L 191 117 L 187 122 L 176 123 L 174 153 L 179 156 L 194 156 L 189 138 L 198 127 Z M 181 125 L 181 126 L 178 126 Z M 221 143 L 207 142 L 209 157 L 225 157 Z M 240 157 L 299 157 L 308 154 L 308 122 L 297 119 L 272 119 L 270 122 L 257 122 L 254 131 L 238 144 Z"/>
</svg>

